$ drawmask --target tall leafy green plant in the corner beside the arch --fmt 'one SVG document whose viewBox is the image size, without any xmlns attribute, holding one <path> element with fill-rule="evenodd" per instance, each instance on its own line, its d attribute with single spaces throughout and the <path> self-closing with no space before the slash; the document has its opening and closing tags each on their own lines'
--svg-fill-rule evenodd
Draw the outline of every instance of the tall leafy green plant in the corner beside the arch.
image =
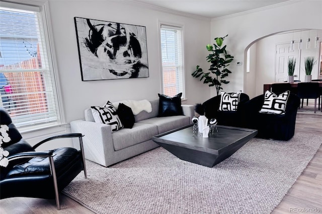
<svg viewBox="0 0 322 214">
<path fill-rule="evenodd" d="M 207 61 L 211 63 L 209 68 L 210 72 L 204 73 L 201 67 L 197 65 L 196 70 L 192 73 L 192 76 L 195 78 L 201 77 L 200 81 L 204 79 L 203 83 L 209 84 L 209 87 L 215 86 L 217 95 L 222 89 L 222 84 L 229 83 L 225 78 L 228 77 L 228 74 L 231 74 L 227 66 L 233 60 L 233 56 L 227 54 L 226 45 L 222 47 L 223 40 L 226 36 L 215 38 L 216 43 L 213 46 L 211 44 L 207 44 L 206 46 L 207 50 L 211 52 L 207 56 Z M 215 76 L 212 77 L 210 73 Z"/>
</svg>

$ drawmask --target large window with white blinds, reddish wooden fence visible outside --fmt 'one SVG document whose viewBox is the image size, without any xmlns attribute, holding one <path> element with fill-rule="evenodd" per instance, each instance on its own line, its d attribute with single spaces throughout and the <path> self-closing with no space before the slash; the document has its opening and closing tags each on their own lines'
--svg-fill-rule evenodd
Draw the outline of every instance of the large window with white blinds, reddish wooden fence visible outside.
<svg viewBox="0 0 322 214">
<path fill-rule="evenodd" d="M 62 123 L 42 13 L 29 5 L 0 7 L 0 106 L 22 130 Z"/>
</svg>

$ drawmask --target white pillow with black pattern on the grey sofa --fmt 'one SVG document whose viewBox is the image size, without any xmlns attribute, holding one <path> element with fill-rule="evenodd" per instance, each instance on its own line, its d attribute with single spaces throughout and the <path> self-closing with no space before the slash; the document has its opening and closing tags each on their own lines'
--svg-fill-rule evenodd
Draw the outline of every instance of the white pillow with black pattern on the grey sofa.
<svg viewBox="0 0 322 214">
<path fill-rule="evenodd" d="M 104 107 L 91 106 L 91 110 L 95 122 L 111 125 L 112 132 L 123 128 L 123 124 L 117 115 L 117 111 L 110 101 L 108 101 Z"/>
</svg>

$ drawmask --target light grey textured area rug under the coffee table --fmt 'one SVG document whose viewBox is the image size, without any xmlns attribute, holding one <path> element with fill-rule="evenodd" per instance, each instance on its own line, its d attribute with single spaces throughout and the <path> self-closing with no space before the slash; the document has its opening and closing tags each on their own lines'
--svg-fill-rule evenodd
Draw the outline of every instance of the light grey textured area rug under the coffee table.
<svg viewBox="0 0 322 214">
<path fill-rule="evenodd" d="M 163 148 L 105 168 L 87 161 L 63 193 L 97 213 L 270 213 L 295 183 L 322 136 L 254 138 L 213 168 Z"/>
</svg>

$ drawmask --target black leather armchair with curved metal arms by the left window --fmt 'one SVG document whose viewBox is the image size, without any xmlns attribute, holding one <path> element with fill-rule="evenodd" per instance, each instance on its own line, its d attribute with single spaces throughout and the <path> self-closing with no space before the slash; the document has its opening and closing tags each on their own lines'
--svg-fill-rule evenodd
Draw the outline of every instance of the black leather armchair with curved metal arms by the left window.
<svg viewBox="0 0 322 214">
<path fill-rule="evenodd" d="M 2 147 L 9 152 L 7 167 L 0 167 L 0 198 L 36 197 L 56 199 L 60 209 L 59 192 L 82 170 L 87 178 L 81 133 L 62 134 L 42 140 L 31 147 L 12 123 L 8 112 L 0 107 L 0 121 L 8 125 L 11 140 Z M 78 137 L 81 151 L 58 148 L 36 152 L 35 149 L 52 139 Z"/>
</svg>

